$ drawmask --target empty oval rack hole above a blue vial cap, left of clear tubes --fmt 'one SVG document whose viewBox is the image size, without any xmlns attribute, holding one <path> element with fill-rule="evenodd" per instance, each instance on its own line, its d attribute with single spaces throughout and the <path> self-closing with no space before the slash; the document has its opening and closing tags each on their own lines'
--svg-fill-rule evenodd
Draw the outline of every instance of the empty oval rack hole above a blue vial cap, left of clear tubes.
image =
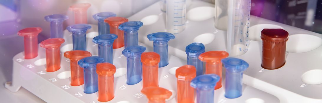
<svg viewBox="0 0 322 103">
<path fill-rule="evenodd" d="M 201 34 L 201 35 L 198 35 L 197 37 L 195 37 L 194 42 L 203 43 L 204 45 L 206 45 L 206 44 L 213 42 L 214 39 L 215 39 L 215 34 L 205 33 L 205 34 Z"/>
</svg>

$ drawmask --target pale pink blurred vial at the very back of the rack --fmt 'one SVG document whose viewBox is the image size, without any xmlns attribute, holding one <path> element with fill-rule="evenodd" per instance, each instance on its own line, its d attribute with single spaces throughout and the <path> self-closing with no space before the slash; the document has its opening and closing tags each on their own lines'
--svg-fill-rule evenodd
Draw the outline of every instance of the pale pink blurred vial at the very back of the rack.
<svg viewBox="0 0 322 103">
<path fill-rule="evenodd" d="M 89 7 L 89 3 L 74 4 L 69 7 L 69 10 L 74 12 L 75 24 L 87 24 L 87 9 Z"/>
</svg>

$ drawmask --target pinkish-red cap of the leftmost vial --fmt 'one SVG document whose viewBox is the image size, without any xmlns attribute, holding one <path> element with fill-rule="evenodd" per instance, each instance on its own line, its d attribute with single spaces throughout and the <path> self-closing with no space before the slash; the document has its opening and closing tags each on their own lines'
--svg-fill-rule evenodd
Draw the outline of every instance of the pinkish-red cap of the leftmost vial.
<svg viewBox="0 0 322 103">
<path fill-rule="evenodd" d="M 32 27 L 32 28 L 25 28 L 23 30 L 18 31 L 19 36 L 38 36 L 40 32 L 42 32 L 43 29 L 40 27 Z"/>
</svg>

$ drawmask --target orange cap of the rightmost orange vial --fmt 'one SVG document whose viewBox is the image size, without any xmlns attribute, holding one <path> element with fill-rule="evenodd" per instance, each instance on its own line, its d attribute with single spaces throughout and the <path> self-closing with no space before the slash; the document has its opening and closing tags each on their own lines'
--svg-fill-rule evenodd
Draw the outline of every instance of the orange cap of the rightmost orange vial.
<svg viewBox="0 0 322 103">
<path fill-rule="evenodd" d="M 228 57 L 228 53 L 226 51 L 208 51 L 200 54 L 199 60 L 201 61 L 220 61 L 223 58 Z"/>
</svg>

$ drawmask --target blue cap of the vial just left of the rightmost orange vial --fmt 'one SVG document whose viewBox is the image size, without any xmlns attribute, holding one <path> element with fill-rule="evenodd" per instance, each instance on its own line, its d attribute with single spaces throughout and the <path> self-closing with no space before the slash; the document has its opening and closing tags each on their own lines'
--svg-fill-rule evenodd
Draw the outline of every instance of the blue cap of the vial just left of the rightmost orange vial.
<svg viewBox="0 0 322 103">
<path fill-rule="evenodd" d="M 204 44 L 192 43 L 185 47 L 185 53 L 191 57 L 197 57 L 201 53 L 204 53 Z"/>
</svg>

